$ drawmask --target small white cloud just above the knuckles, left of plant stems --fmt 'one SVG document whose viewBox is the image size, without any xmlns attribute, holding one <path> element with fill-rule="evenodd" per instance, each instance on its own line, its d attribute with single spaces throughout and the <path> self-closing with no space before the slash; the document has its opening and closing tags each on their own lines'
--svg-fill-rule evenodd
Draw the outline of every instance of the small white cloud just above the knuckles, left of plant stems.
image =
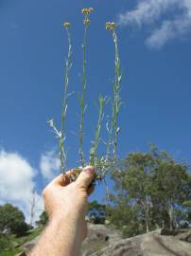
<svg viewBox="0 0 191 256">
<path fill-rule="evenodd" d="M 43 177 L 48 181 L 60 173 L 60 159 L 54 151 L 41 156 L 40 168 Z"/>
</svg>

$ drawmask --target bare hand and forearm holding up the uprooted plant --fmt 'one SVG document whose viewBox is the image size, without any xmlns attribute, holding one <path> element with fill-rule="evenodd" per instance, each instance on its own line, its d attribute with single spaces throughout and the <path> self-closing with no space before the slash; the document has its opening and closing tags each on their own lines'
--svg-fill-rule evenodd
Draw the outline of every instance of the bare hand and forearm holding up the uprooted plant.
<svg viewBox="0 0 191 256">
<path fill-rule="evenodd" d="M 88 209 L 87 198 L 94 187 L 95 171 L 87 166 L 70 182 L 74 171 L 61 174 L 43 190 L 45 210 L 49 223 L 43 231 L 39 243 L 30 256 L 78 256 L 83 240 L 87 235 L 85 213 Z"/>
</svg>

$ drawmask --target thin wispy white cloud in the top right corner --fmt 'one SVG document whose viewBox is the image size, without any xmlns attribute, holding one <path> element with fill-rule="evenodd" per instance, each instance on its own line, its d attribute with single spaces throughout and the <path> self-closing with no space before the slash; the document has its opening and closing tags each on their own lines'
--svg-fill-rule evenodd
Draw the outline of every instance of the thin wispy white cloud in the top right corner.
<svg viewBox="0 0 191 256">
<path fill-rule="evenodd" d="M 171 13 L 172 18 L 165 14 Z M 121 26 L 155 27 L 146 39 L 149 47 L 160 48 L 191 31 L 191 0 L 139 0 L 135 9 L 119 15 Z"/>
</svg>

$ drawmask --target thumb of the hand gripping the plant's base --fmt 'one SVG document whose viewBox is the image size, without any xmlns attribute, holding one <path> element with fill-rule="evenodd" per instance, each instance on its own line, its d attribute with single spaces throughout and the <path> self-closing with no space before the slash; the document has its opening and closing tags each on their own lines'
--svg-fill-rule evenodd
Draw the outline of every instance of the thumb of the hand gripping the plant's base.
<svg viewBox="0 0 191 256">
<path fill-rule="evenodd" d="M 86 166 L 82 172 L 78 175 L 76 183 L 81 187 L 88 189 L 88 186 L 95 178 L 95 169 L 92 166 Z"/>
</svg>

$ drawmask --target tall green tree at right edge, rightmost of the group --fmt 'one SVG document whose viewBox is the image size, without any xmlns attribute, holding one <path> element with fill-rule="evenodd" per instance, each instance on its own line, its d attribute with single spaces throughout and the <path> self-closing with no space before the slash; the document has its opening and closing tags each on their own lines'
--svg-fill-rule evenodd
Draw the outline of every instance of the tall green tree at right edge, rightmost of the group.
<svg viewBox="0 0 191 256">
<path fill-rule="evenodd" d="M 176 214 L 184 207 L 183 203 L 190 198 L 191 186 L 186 165 L 174 160 L 162 162 L 153 178 L 153 203 L 158 199 L 156 208 L 166 210 L 169 229 L 176 224 Z M 159 205 L 162 207 L 159 208 Z"/>
</svg>

